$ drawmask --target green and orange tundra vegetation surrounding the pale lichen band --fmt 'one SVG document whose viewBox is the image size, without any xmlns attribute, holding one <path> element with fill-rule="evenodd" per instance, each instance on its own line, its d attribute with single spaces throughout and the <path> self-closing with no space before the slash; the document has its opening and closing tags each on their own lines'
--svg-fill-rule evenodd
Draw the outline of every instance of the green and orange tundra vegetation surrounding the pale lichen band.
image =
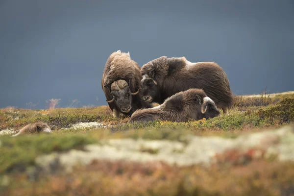
<svg viewBox="0 0 294 196">
<path fill-rule="evenodd" d="M 35 158 L 42 154 L 81 149 L 101 139 L 143 138 L 182 141 L 182 136 L 235 138 L 294 122 L 294 94 L 270 98 L 236 96 L 229 116 L 183 123 L 127 123 L 115 119 L 108 106 L 27 110 L 0 109 L 0 130 L 18 130 L 27 123 L 49 124 L 51 135 L 0 136 L 0 194 L 79 196 L 290 196 L 294 194 L 294 164 L 269 160 L 246 165 L 177 167 L 165 163 L 97 161 L 73 173 L 32 176 Z M 99 127 L 73 128 L 76 123 L 97 122 Z M 205 153 L 205 152 L 203 152 Z M 34 170 L 38 170 L 34 168 Z"/>
</svg>

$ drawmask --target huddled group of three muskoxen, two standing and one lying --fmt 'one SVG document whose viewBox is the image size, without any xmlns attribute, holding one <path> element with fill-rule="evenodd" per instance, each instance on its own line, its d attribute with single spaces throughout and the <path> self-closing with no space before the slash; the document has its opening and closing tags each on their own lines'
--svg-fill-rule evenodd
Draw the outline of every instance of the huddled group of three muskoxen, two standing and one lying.
<svg viewBox="0 0 294 196">
<path fill-rule="evenodd" d="M 115 118 L 129 122 L 210 119 L 228 115 L 233 94 L 226 73 L 215 62 L 192 63 L 161 56 L 140 69 L 129 52 L 113 52 L 101 86 Z M 152 107 L 151 103 L 160 105 Z"/>
</svg>

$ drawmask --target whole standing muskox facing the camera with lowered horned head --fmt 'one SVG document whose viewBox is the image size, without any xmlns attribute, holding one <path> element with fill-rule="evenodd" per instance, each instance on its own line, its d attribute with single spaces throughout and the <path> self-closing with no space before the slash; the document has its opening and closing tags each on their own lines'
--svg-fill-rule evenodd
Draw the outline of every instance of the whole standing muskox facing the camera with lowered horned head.
<svg viewBox="0 0 294 196">
<path fill-rule="evenodd" d="M 140 67 L 131 59 L 129 52 L 118 50 L 109 56 L 101 86 L 115 118 L 131 116 L 137 109 L 151 107 L 142 98 L 141 79 Z"/>
</svg>

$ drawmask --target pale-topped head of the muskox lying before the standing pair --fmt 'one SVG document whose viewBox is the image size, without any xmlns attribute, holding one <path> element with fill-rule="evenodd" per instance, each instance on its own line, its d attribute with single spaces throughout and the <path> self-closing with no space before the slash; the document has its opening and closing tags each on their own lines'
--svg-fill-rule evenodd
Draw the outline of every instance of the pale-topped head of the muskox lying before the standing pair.
<svg viewBox="0 0 294 196">
<path fill-rule="evenodd" d="M 217 108 L 215 102 L 209 97 L 203 98 L 201 113 L 203 114 L 203 118 L 206 119 L 214 118 L 221 115 L 221 112 Z"/>
</svg>

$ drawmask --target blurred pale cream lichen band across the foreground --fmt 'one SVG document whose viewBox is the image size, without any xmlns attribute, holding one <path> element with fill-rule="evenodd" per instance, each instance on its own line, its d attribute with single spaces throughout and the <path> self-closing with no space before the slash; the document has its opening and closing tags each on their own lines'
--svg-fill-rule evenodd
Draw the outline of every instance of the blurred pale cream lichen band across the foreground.
<svg viewBox="0 0 294 196">
<path fill-rule="evenodd" d="M 246 151 L 252 147 L 266 150 L 266 156 L 276 155 L 278 160 L 294 161 L 294 126 L 288 125 L 277 130 L 243 134 L 236 139 L 221 137 L 188 136 L 189 143 L 168 140 L 110 139 L 99 145 L 87 145 L 85 151 L 70 150 L 65 153 L 52 153 L 39 156 L 36 163 L 50 170 L 53 163 L 58 163 L 66 172 L 73 166 L 87 165 L 93 160 L 128 160 L 146 163 L 163 161 L 178 166 L 203 164 L 209 166 L 217 153 L 228 149 Z M 150 153 L 153 152 L 153 153 Z M 260 156 L 261 152 L 256 152 Z"/>
</svg>

